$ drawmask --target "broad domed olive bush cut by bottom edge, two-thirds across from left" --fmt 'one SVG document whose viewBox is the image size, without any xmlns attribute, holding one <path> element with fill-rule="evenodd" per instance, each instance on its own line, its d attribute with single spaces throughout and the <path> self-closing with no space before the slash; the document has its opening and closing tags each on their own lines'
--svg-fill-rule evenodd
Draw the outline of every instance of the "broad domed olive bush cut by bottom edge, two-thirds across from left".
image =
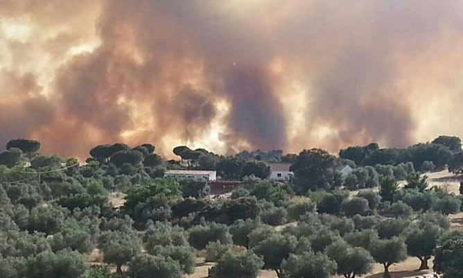
<svg viewBox="0 0 463 278">
<path fill-rule="evenodd" d="M 284 278 L 329 278 L 336 271 L 336 263 L 322 253 L 290 254 L 282 266 Z"/>
</svg>

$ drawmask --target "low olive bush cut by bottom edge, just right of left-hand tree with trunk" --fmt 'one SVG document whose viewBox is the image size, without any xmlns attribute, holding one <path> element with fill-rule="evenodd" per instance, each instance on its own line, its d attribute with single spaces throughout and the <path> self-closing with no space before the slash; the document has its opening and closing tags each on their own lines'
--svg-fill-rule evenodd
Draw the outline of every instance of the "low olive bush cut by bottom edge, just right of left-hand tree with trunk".
<svg viewBox="0 0 463 278">
<path fill-rule="evenodd" d="M 141 254 L 129 263 L 130 278 L 182 278 L 180 263 L 171 257 Z"/>
</svg>

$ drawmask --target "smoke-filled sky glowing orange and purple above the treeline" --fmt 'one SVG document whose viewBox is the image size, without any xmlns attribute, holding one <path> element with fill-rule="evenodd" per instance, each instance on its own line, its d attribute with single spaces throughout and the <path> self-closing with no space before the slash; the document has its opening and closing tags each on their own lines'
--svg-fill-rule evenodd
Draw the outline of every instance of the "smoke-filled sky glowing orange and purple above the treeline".
<svg viewBox="0 0 463 278">
<path fill-rule="evenodd" d="M 337 153 L 463 136 L 463 1 L 0 0 L 0 144 Z"/>
</svg>

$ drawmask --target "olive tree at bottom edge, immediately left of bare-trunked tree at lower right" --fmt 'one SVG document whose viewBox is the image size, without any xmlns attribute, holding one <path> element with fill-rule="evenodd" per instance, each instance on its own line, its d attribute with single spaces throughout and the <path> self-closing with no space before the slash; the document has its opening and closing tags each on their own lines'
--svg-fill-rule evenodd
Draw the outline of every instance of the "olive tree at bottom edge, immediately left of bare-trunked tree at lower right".
<svg viewBox="0 0 463 278">
<path fill-rule="evenodd" d="M 373 269 L 374 259 L 367 250 L 351 247 L 344 241 L 336 241 L 329 245 L 326 254 L 336 262 L 336 273 L 346 278 L 364 275 Z"/>
</svg>

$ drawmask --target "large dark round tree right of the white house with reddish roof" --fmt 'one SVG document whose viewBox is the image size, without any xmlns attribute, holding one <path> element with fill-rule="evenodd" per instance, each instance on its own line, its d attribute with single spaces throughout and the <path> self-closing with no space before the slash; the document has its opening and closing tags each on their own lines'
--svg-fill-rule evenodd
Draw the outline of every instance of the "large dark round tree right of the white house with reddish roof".
<svg viewBox="0 0 463 278">
<path fill-rule="evenodd" d="M 334 184 L 335 164 L 336 158 L 326 150 L 303 150 L 290 166 L 296 178 L 295 191 L 304 195 L 309 190 L 330 189 Z"/>
</svg>

